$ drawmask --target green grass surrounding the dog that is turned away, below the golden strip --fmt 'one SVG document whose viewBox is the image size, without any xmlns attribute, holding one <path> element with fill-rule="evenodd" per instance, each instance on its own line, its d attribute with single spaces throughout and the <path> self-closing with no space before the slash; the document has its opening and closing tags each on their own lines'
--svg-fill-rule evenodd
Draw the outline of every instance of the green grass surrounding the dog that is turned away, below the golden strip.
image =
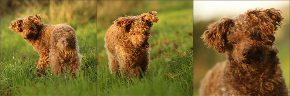
<svg viewBox="0 0 290 96">
<path fill-rule="evenodd" d="M 38 78 L 35 67 L 39 55 L 19 33 L 9 29 L 12 20 L 1 19 L 0 95 L 97 95 L 96 22 L 75 27 L 83 58 L 77 78 L 68 73 L 51 76 L 50 68 L 47 76 Z"/>
</svg>

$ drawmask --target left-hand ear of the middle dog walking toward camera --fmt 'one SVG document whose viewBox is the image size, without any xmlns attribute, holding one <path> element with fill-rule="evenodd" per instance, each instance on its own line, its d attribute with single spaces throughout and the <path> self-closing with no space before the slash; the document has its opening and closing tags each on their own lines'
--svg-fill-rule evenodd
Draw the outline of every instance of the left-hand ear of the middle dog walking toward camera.
<svg viewBox="0 0 290 96">
<path fill-rule="evenodd" d="M 124 34 L 130 31 L 132 22 L 133 22 L 133 18 L 126 16 L 126 17 L 119 17 L 113 23 L 119 29 L 120 33 Z"/>
</svg>

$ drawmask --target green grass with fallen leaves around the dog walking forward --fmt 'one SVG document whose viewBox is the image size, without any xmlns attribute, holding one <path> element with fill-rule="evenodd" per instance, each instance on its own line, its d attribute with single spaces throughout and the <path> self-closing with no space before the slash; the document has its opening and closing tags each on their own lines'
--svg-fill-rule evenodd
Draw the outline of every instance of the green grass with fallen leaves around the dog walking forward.
<svg viewBox="0 0 290 96">
<path fill-rule="evenodd" d="M 193 95 L 193 9 L 159 11 L 157 17 L 149 41 L 151 62 L 140 79 L 110 74 L 103 40 L 109 26 L 97 32 L 97 95 Z M 165 75 L 184 71 L 173 79 Z"/>
</svg>

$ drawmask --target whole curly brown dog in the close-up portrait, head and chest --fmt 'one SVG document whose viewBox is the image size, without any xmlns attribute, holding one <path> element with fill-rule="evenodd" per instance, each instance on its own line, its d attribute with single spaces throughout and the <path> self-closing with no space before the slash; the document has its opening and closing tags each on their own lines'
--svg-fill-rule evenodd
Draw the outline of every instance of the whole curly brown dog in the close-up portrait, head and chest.
<svg viewBox="0 0 290 96">
<path fill-rule="evenodd" d="M 209 70 L 200 95 L 288 95 L 273 45 L 281 10 L 252 9 L 208 26 L 201 38 L 227 60 Z M 249 66 L 249 67 L 248 67 Z"/>
</svg>

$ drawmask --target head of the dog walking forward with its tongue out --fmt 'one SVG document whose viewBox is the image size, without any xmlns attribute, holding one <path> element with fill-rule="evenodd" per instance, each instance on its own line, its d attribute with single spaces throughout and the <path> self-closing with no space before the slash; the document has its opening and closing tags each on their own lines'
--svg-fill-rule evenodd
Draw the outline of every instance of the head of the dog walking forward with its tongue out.
<svg viewBox="0 0 290 96">
<path fill-rule="evenodd" d="M 149 48 L 148 40 L 153 22 L 157 23 L 159 18 L 155 11 L 143 13 L 139 16 L 119 17 L 114 21 L 119 32 L 128 37 L 135 48 Z"/>
</svg>

